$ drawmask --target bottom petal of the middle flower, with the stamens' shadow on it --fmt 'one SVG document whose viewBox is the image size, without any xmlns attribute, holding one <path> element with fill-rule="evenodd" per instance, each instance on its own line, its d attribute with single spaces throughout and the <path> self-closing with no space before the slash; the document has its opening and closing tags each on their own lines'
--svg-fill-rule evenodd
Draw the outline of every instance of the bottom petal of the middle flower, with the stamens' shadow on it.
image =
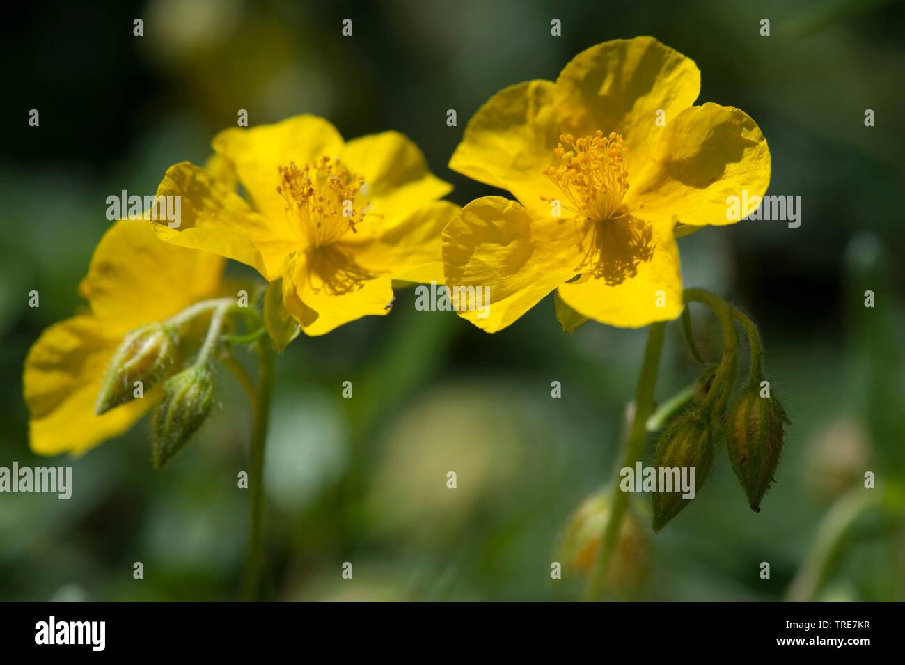
<svg viewBox="0 0 905 665">
<path fill-rule="evenodd" d="M 368 275 L 336 245 L 297 254 L 284 267 L 283 302 L 306 335 L 385 315 L 392 301 L 392 280 Z"/>
</svg>

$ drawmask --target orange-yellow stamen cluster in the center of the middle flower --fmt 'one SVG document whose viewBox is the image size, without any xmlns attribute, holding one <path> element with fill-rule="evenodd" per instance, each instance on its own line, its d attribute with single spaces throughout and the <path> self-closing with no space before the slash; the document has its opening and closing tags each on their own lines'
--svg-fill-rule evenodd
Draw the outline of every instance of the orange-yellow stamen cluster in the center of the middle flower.
<svg viewBox="0 0 905 665">
<path fill-rule="evenodd" d="M 320 157 L 314 164 L 299 168 L 295 162 L 280 166 L 277 192 L 286 201 L 290 223 L 307 237 L 311 245 L 321 247 L 338 241 L 366 216 L 367 204 L 356 208 L 356 196 L 365 179 L 351 173 L 339 160 Z"/>
</svg>

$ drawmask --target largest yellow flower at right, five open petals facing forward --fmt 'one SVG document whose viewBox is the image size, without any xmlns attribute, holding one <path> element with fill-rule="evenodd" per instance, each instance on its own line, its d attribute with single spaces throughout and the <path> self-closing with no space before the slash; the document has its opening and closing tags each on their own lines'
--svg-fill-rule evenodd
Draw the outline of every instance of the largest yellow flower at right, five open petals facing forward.
<svg viewBox="0 0 905 665">
<path fill-rule="evenodd" d="M 489 316 L 460 314 L 495 332 L 558 289 L 609 325 L 679 316 L 676 233 L 731 223 L 727 198 L 747 189 L 750 202 L 770 179 L 754 120 L 692 106 L 699 91 L 694 62 L 637 37 L 597 44 L 556 82 L 519 83 L 485 103 L 449 166 L 518 202 L 477 199 L 444 230 L 447 285 L 490 292 Z"/>
</svg>

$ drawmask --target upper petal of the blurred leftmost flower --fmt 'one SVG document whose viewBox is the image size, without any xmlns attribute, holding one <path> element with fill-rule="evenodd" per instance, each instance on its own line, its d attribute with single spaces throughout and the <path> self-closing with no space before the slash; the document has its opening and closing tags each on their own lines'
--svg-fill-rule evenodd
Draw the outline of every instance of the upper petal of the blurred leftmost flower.
<svg viewBox="0 0 905 665">
<path fill-rule="evenodd" d="M 100 239 L 81 293 L 106 331 L 121 337 L 213 297 L 223 267 L 214 254 L 162 242 L 148 221 L 121 220 Z"/>
</svg>

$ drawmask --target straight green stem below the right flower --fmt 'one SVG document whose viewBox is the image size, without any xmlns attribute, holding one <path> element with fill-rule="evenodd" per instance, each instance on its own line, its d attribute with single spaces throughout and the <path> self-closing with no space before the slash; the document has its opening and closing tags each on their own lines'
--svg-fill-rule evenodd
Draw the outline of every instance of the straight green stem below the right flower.
<svg viewBox="0 0 905 665">
<path fill-rule="evenodd" d="M 619 531 L 622 528 L 625 510 L 628 508 L 628 494 L 619 489 L 619 474 L 624 467 L 633 467 L 635 461 L 643 456 L 644 440 L 647 434 L 645 424 L 653 412 L 653 390 L 657 385 L 657 371 L 660 368 L 660 356 L 663 348 L 664 323 L 654 323 L 647 333 L 647 346 L 644 348 L 644 362 L 641 375 L 638 376 L 638 387 L 634 398 L 634 416 L 632 430 L 625 442 L 623 463 L 615 469 L 613 483 L 613 500 L 609 519 L 606 520 L 603 539 L 600 544 L 600 560 L 597 561 L 594 577 L 589 588 L 589 599 L 595 600 L 603 592 L 606 574 L 613 559 Z"/>
</svg>

